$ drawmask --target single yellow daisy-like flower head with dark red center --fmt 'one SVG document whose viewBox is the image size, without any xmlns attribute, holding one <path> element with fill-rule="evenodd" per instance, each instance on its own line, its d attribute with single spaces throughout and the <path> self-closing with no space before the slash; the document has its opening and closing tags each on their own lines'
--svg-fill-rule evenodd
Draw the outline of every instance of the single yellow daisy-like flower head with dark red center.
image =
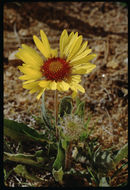
<svg viewBox="0 0 130 190">
<path fill-rule="evenodd" d="M 26 80 L 23 88 L 30 90 L 30 93 L 38 92 L 39 99 L 45 90 L 67 91 L 71 89 L 73 96 L 77 91 L 84 93 L 84 88 L 79 84 L 81 74 L 91 72 L 96 65 L 90 63 L 96 55 L 90 54 L 91 49 L 87 42 L 82 43 L 83 37 L 78 32 L 71 32 L 69 35 L 64 30 L 60 37 L 60 52 L 52 49 L 46 34 L 40 30 L 41 40 L 33 36 L 33 40 L 42 53 L 42 58 L 34 49 L 22 44 L 22 48 L 16 57 L 24 63 L 19 70 L 24 73 L 19 79 Z"/>
</svg>

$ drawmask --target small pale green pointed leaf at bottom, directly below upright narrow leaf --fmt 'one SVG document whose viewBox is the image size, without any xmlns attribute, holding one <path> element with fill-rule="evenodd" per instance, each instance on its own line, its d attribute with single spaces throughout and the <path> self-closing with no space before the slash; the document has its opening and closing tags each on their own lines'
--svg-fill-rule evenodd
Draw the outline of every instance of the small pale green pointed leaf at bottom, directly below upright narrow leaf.
<svg viewBox="0 0 130 190">
<path fill-rule="evenodd" d="M 53 174 L 53 177 L 55 178 L 55 180 L 57 182 L 59 182 L 60 184 L 63 184 L 63 175 L 64 175 L 64 172 L 62 170 L 62 167 L 59 170 L 55 170 L 53 168 L 52 174 Z"/>
</svg>

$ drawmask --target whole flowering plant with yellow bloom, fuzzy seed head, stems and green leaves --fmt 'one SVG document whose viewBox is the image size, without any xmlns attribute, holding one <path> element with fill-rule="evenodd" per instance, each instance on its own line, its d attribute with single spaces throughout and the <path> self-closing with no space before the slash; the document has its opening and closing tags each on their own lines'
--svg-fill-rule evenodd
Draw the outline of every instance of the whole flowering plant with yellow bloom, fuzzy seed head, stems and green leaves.
<svg viewBox="0 0 130 190">
<path fill-rule="evenodd" d="M 34 177 L 26 170 L 26 165 L 29 165 L 41 171 L 48 169 L 50 171 L 51 167 L 55 181 L 62 185 L 64 175 L 69 174 L 70 177 L 77 173 L 83 178 L 86 176 L 88 183 L 109 186 L 108 171 L 115 168 L 120 160 L 128 155 L 128 144 L 118 151 L 117 155 L 111 154 L 110 151 L 101 151 L 97 140 L 89 138 L 95 125 L 88 128 L 90 117 L 88 116 L 86 120 L 85 102 L 77 97 L 76 106 L 73 106 L 73 97 L 78 91 L 85 93 L 85 89 L 80 85 L 81 75 L 90 73 L 96 67 L 90 63 L 96 55 L 90 54 L 91 49 L 87 47 L 87 42 L 83 42 L 83 37 L 78 36 L 77 32 L 71 32 L 69 35 L 66 30 L 62 32 L 59 52 L 50 47 L 47 36 L 42 30 L 40 34 L 41 40 L 36 36 L 33 36 L 33 39 L 42 55 L 22 44 L 16 57 L 24 62 L 22 66 L 18 66 L 24 74 L 19 77 L 24 80 L 23 88 L 30 90 L 30 93 L 37 92 L 37 99 L 42 96 L 42 117 L 34 116 L 34 119 L 40 128 L 44 129 L 44 133 L 24 123 L 4 119 L 4 136 L 20 145 L 15 154 L 14 150 L 10 150 L 11 146 L 8 146 L 6 140 L 4 142 L 4 161 L 18 163 L 9 173 L 4 171 L 5 181 L 13 171 L 26 179 L 45 183 L 44 179 Z M 59 101 L 58 109 L 58 91 L 64 92 L 69 89 L 72 91 L 72 97 L 64 96 Z M 45 90 L 55 92 L 55 107 L 52 112 L 45 110 Z M 35 150 L 35 153 L 30 154 L 28 148 L 26 154 L 23 151 L 26 142 L 32 146 L 40 145 L 38 151 L 34 147 L 31 152 Z M 85 164 L 83 170 L 82 167 L 75 165 L 80 161 Z"/>
</svg>

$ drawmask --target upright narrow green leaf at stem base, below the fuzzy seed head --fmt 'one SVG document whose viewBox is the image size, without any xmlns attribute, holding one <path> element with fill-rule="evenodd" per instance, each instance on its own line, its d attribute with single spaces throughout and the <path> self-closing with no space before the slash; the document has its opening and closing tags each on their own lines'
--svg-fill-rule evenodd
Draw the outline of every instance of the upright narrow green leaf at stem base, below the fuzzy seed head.
<svg viewBox="0 0 130 190">
<path fill-rule="evenodd" d="M 53 163 L 53 168 L 55 170 L 59 170 L 61 167 L 64 167 L 64 164 L 65 164 L 65 150 L 62 148 L 61 141 L 59 141 L 57 157 Z"/>
</svg>

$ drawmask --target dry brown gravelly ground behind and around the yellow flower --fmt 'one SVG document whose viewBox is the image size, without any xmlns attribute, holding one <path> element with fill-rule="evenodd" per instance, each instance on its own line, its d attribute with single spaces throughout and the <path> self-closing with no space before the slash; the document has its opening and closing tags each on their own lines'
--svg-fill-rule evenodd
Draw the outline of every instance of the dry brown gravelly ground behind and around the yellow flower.
<svg viewBox="0 0 130 190">
<path fill-rule="evenodd" d="M 120 3 L 55 2 L 6 3 L 4 5 L 4 116 L 34 124 L 41 101 L 22 88 L 14 53 L 25 43 L 34 47 L 32 35 L 40 29 L 57 47 L 62 30 L 78 31 L 97 54 L 97 67 L 83 77 L 86 118 L 97 122 L 93 136 L 104 148 L 120 149 L 128 140 L 128 10 Z M 49 96 L 48 96 L 49 95 Z M 59 97 L 62 97 L 60 94 Z M 46 93 L 53 109 L 53 92 Z M 91 127 L 91 124 L 90 124 Z"/>
</svg>

